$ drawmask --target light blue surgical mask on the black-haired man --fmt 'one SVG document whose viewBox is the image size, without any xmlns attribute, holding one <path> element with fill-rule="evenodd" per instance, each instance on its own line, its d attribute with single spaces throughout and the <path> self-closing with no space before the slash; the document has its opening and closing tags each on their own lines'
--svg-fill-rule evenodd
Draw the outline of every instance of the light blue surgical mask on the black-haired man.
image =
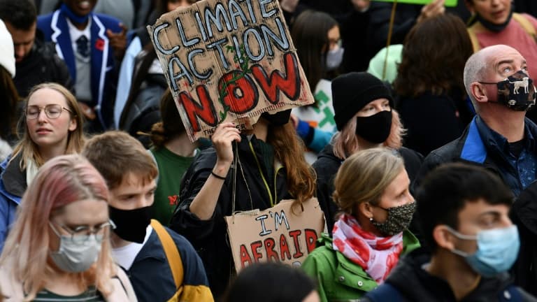
<svg viewBox="0 0 537 302">
<path fill-rule="evenodd" d="M 450 227 L 447 229 L 459 239 L 477 241 L 478 250 L 473 254 L 461 250 L 451 252 L 464 257 L 473 271 L 483 277 L 493 277 L 508 271 L 517 259 L 520 239 L 514 224 L 506 228 L 479 231 L 475 236 L 461 234 Z"/>
</svg>

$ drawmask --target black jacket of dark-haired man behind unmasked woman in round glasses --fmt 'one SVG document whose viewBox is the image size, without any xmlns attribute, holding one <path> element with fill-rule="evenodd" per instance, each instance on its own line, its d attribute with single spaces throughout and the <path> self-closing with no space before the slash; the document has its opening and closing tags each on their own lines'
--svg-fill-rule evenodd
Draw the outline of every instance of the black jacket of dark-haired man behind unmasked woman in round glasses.
<svg viewBox="0 0 537 302">
<path fill-rule="evenodd" d="M 74 83 L 65 62 L 56 55 L 52 43 L 43 43 L 38 38 L 34 47 L 22 62 L 15 64 L 13 82 L 20 97 L 26 97 L 31 88 L 42 82 L 57 82 L 71 92 L 75 92 Z"/>
</svg>

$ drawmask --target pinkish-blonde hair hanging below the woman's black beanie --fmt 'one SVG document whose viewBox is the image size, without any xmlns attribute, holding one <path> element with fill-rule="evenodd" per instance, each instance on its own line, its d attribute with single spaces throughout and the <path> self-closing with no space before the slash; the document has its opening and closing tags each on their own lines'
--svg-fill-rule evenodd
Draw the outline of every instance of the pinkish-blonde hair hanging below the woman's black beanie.
<svg viewBox="0 0 537 302">
<path fill-rule="evenodd" d="M 406 129 L 403 128 L 399 113 L 392 108 L 392 129 L 382 145 L 392 149 L 399 149 L 403 145 L 403 136 L 405 134 Z M 364 147 L 360 146 L 356 135 L 356 118 L 352 118 L 340 132 L 334 135 L 334 154 L 336 157 L 346 159 L 359 150 L 364 150 Z"/>
</svg>

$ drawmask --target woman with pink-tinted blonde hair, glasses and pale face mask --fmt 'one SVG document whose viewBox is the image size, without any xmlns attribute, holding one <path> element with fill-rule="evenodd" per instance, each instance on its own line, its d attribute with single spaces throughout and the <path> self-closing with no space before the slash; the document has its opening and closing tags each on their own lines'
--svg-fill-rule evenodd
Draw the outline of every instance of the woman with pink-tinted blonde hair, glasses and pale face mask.
<svg viewBox="0 0 537 302">
<path fill-rule="evenodd" d="M 110 256 L 108 188 L 78 154 L 44 164 L 0 258 L 4 301 L 136 301 Z"/>
</svg>

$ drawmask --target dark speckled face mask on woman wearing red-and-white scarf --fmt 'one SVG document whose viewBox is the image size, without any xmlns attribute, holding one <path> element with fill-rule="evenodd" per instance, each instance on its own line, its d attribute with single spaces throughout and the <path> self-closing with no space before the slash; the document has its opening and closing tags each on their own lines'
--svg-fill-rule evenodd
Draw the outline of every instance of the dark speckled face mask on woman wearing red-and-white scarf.
<svg viewBox="0 0 537 302">
<path fill-rule="evenodd" d="M 380 208 L 377 206 L 377 208 Z M 385 222 L 376 222 L 371 218 L 371 223 L 383 234 L 394 236 L 401 233 L 410 226 L 412 217 L 416 210 L 416 202 L 404 204 L 403 206 L 395 206 L 392 208 L 381 208 L 388 212 L 388 217 Z"/>
</svg>

